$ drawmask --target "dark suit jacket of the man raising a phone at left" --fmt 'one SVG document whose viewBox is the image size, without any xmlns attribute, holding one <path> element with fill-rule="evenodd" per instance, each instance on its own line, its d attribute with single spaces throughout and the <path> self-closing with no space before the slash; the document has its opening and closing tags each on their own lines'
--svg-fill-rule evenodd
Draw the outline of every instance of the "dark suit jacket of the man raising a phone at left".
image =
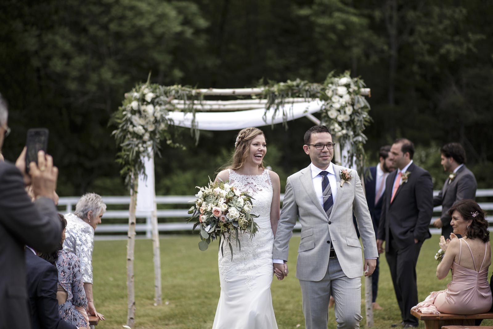
<svg viewBox="0 0 493 329">
<path fill-rule="evenodd" d="M 53 201 L 31 202 L 19 170 L 0 161 L 0 329 L 31 327 L 24 245 L 53 252 L 61 232 Z"/>
</svg>

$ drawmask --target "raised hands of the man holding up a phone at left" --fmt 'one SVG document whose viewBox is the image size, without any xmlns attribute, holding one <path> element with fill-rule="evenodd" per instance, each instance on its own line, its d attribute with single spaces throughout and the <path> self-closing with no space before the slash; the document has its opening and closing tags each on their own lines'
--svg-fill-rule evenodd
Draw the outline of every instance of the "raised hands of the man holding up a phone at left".
<svg viewBox="0 0 493 329">
<path fill-rule="evenodd" d="M 58 168 L 53 166 L 51 155 L 44 154 L 43 151 L 37 153 L 37 163 L 29 164 L 29 174 L 26 173 L 26 147 L 19 155 L 15 166 L 20 170 L 26 185 L 32 185 L 35 197 L 43 196 L 52 200 L 58 199 L 55 193 L 58 178 Z"/>
</svg>

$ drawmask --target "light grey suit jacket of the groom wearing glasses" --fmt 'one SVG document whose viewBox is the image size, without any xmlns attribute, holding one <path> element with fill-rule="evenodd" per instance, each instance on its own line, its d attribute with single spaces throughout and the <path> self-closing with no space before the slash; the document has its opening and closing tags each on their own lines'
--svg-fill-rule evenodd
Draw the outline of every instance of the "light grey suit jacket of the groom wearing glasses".
<svg viewBox="0 0 493 329">
<path fill-rule="evenodd" d="M 341 187 L 340 172 L 347 168 L 333 166 L 337 195 L 330 218 L 317 199 L 310 166 L 287 178 L 273 258 L 287 260 L 289 239 L 296 219 L 299 219 L 301 241 L 296 277 L 300 280 L 320 281 L 325 276 L 331 246 L 347 277 L 355 278 L 363 274 L 361 245 L 352 223 L 353 212 L 361 233 L 365 258 L 378 257 L 375 232 L 359 176 L 355 170 L 348 169 L 352 179 Z"/>
</svg>

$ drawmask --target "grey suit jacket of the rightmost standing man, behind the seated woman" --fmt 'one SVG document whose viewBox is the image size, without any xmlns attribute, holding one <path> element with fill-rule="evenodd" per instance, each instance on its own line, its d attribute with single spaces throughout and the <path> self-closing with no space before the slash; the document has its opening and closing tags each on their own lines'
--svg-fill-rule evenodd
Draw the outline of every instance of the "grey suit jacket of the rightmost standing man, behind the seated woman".
<svg viewBox="0 0 493 329">
<path fill-rule="evenodd" d="M 474 174 L 465 165 L 457 170 L 456 178 L 450 184 L 449 181 L 450 178 L 447 178 L 440 193 L 433 197 L 433 207 L 442 206 L 440 219 L 443 226 L 450 226 L 452 217 L 448 214 L 449 209 L 460 200 L 474 200 L 478 187 Z"/>
</svg>

